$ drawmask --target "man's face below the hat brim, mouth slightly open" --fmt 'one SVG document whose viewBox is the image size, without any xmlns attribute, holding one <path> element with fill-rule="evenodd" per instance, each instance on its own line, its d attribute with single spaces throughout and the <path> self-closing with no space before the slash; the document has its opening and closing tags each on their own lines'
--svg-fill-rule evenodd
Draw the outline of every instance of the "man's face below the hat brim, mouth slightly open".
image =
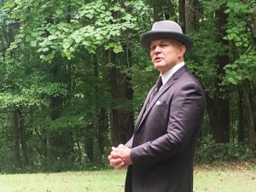
<svg viewBox="0 0 256 192">
<path fill-rule="evenodd" d="M 150 43 L 150 56 L 154 67 L 162 74 L 183 61 L 185 51 L 183 44 L 172 39 L 157 39 Z"/>
</svg>

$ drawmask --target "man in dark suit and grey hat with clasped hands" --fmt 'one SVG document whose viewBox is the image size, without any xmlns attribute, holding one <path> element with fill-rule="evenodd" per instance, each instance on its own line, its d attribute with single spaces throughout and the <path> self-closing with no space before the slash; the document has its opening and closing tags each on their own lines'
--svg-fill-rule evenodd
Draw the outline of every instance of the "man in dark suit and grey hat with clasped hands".
<svg viewBox="0 0 256 192">
<path fill-rule="evenodd" d="M 206 101 L 201 84 L 184 66 L 192 40 L 174 21 L 155 22 L 141 37 L 162 83 L 149 91 L 131 139 L 108 156 L 128 166 L 125 192 L 192 192 L 195 145 Z"/>
</svg>

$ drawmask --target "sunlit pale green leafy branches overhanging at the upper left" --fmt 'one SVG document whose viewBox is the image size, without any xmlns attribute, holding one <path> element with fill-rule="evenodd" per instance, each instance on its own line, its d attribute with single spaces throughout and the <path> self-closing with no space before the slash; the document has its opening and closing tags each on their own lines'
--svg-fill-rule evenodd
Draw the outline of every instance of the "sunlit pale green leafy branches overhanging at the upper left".
<svg viewBox="0 0 256 192">
<path fill-rule="evenodd" d="M 53 3 L 57 9 L 52 9 Z M 143 10 L 142 1 L 127 2 L 125 6 L 132 6 L 131 9 L 138 6 L 136 12 Z M 137 19 L 114 1 L 15 1 L 5 4 L 3 10 L 11 13 L 12 19 L 20 20 L 20 24 L 26 21 L 10 49 L 15 49 L 19 42 L 25 41 L 37 49 L 42 60 L 49 62 L 57 53 L 67 59 L 83 49 L 95 54 L 100 45 L 119 53 L 122 51 L 120 42 L 131 36 L 127 34 L 121 37 L 121 34 L 138 28 Z"/>
</svg>

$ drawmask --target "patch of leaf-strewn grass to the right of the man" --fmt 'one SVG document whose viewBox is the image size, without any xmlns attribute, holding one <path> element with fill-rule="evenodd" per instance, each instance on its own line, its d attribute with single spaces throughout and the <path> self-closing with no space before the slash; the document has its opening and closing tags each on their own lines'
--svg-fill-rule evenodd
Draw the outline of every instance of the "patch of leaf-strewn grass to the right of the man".
<svg viewBox="0 0 256 192">
<path fill-rule="evenodd" d="M 194 192 L 254 192 L 256 166 L 195 168 Z"/>
</svg>

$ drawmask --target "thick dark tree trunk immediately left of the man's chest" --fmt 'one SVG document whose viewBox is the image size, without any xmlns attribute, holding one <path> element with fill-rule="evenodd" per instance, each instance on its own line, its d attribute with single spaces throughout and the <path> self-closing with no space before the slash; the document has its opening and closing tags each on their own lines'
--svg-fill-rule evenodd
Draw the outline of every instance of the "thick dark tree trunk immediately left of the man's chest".
<svg viewBox="0 0 256 192">
<path fill-rule="evenodd" d="M 131 88 L 131 77 L 127 73 L 122 73 L 120 68 L 126 68 L 131 65 L 131 51 L 125 49 L 126 53 L 116 55 L 112 50 L 109 50 L 108 58 L 110 62 L 116 66 L 110 69 L 110 86 L 112 96 L 112 118 L 113 118 L 113 145 L 125 143 L 132 135 L 134 129 L 134 119 L 132 106 L 129 108 L 121 107 L 124 102 L 132 100 L 133 91 Z M 128 51 L 128 52 L 127 52 Z M 119 67 L 118 67 L 119 65 Z"/>
</svg>

